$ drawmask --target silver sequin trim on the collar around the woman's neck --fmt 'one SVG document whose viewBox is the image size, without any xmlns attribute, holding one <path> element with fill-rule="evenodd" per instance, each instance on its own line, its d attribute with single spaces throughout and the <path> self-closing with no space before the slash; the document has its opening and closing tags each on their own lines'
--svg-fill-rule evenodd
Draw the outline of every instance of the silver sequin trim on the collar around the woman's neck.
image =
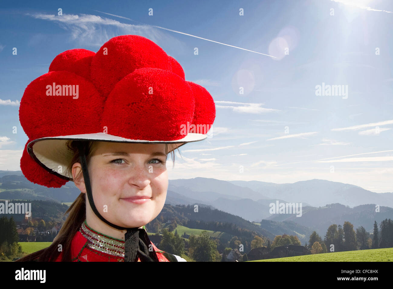
<svg viewBox="0 0 393 289">
<path fill-rule="evenodd" d="M 79 228 L 79 232 L 81 232 L 83 237 L 87 239 L 88 246 L 91 249 L 124 258 L 124 243 L 90 231 L 88 228 L 86 228 L 84 222 L 82 223 L 81 228 Z"/>
</svg>

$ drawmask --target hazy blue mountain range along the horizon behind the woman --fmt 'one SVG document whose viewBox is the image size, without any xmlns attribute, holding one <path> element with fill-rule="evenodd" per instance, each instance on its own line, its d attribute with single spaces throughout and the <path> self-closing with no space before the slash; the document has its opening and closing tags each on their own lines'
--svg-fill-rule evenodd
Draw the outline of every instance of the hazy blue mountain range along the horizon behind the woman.
<svg viewBox="0 0 393 289">
<path fill-rule="evenodd" d="M 72 182 L 62 188 L 33 184 L 22 171 L 0 171 L 0 182 L 0 199 L 72 202 L 80 193 Z M 270 204 L 277 201 L 302 203 L 302 216 L 270 214 Z M 312 230 L 323 237 L 331 224 L 343 225 L 344 221 L 350 221 L 354 228 L 364 226 L 371 231 L 374 220 L 380 223 L 385 218 L 393 218 L 393 193 L 375 193 L 351 184 L 318 179 L 293 184 L 201 177 L 169 180 L 165 203 L 208 206 L 261 223 L 268 237 L 297 234 L 303 240 L 308 240 Z"/>
</svg>

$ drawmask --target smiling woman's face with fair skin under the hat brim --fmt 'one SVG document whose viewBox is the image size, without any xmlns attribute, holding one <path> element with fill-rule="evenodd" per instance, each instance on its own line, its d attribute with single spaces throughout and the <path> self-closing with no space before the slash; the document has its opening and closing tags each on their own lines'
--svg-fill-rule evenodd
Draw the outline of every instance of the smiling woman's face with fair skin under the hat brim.
<svg viewBox="0 0 393 289">
<path fill-rule="evenodd" d="M 165 163 L 165 144 L 99 142 L 88 165 L 98 212 L 110 223 L 126 228 L 151 222 L 167 195 Z M 86 192 L 84 183 L 82 189 Z M 86 215 L 94 215 L 88 202 L 86 209 Z"/>
</svg>

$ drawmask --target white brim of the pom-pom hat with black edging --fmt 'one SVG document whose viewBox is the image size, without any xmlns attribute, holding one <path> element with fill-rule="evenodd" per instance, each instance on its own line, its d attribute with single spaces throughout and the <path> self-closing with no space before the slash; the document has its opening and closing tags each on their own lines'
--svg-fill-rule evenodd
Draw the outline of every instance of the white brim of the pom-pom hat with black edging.
<svg viewBox="0 0 393 289">
<path fill-rule="evenodd" d="M 73 157 L 73 151 L 68 147 L 69 140 L 99 141 L 99 142 L 123 142 L 139 144 L 173 144 L 168 153 L 176 148 L 188 143 L 198 142 L 208 137 L 207 134 L 188 133 L 180 140 L 172 141 L 151 141 L 151 140 L 131 140 L 121 136 L 114 136 L 107 133 L 75 134 L 68 136 L 52 136 L 37 138 L 27 145 L 29 155 L 44 169 L 65 180 L 72 180 L 72 175 L 67 172 L 68 165 Z M 59 167 L 61 166 L 61 167 Z M 70 173 L 70 172 L 69 172 Z"/>
</svg>

